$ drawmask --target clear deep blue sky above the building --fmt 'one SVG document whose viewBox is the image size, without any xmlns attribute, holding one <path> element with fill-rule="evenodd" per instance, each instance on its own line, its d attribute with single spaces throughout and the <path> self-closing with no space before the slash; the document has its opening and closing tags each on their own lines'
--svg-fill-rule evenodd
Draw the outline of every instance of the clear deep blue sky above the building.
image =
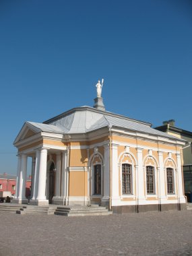
<svg viewBox="0 0 192 256">
<path fill-rule="evenodd" d="M 93 106 L 192 131 L 192 2 L 1 0 L 0 173 L 15 174 L 25 121 Z"/>
</svg>

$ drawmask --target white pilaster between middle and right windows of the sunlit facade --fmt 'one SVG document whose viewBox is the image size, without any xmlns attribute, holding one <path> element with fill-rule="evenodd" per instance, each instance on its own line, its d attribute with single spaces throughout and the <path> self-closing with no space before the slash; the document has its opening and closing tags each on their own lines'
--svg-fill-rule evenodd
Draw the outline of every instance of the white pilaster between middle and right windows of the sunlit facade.
<svg viewBox="0 0 192 256">
<path fill-rule="evenodd" d="M 159 184 L 160 186 L 160 201 L 163 203 L 163 200 L 166 199 L 166 194 L 165 194 L 165 179 L 164 179 L 164 166 L 163 166 L 163 152 L 158 151 L 158 158 L 159 158 Z"/>
</svg>

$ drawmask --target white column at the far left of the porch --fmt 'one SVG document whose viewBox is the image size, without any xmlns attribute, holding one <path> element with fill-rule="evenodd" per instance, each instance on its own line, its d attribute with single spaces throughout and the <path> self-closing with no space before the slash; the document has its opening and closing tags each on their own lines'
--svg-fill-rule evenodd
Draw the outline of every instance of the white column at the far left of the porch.
<svg viewBox="0 0 192 256">
<path fill-rule="evenodd" d="M 27 172 L 27 156 L 22 154 L 20 166 L 20 189 L 18 193 L 18 203 L 27 203 L 26 199 L 26 172 Z"/>
</svg>

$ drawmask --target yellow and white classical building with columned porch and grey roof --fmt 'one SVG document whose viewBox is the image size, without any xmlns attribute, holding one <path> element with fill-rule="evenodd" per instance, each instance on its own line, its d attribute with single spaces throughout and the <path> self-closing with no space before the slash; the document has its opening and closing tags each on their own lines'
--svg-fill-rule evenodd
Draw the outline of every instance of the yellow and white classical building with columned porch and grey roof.
<svg viewBox="0 0 192 256">
<path fill-rule="evenodd" d="M 26 202 L 30 157 L 31 204 L 98 203 L 117 213 L 184 209 L 185 143 L 150 123 L 106 111 L 100 92 L 93 108 L 73 108 L 44 123 L 24 124 L 14 141 L 15 202 Z"/>
</svg>

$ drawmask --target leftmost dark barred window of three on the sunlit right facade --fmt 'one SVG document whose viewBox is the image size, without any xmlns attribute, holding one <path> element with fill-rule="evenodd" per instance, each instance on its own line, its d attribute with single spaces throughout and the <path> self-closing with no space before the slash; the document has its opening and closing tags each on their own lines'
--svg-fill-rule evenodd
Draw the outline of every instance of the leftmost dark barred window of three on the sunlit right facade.
<svg viewBox="0 0 192 256">
<path fill-rule="evenodd" d="M 132 194 L 132 166 L 122 164 L 122 194 Z"/>
</svg>

